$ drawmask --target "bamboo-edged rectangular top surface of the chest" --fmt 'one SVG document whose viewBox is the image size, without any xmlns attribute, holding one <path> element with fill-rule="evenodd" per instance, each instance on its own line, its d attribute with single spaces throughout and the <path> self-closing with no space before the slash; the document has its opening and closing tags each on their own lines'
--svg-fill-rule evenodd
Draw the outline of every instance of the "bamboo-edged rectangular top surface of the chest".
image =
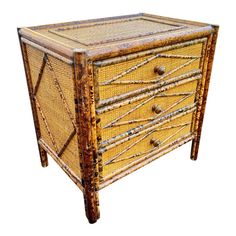
<svg viewBox="0 0 236 236">
<path fill-rule="evenodd" d="M 69 57 L 74 50 L 87 51 L 91 57 L 101 54 L 109 57 L 109 52 L 119 51 L 125 54 L 129 53 L 126 50 L 131 48 L 134 48 L 134 51 L 143 50 L 152 47 L 153 42 L 164 41 L 169 44 L 175 38 L 184 41 L 192 34 L 209 30 L 211 26 L 203 23 L 140 13 L 27 27 L 22 28 L 21 33 L 42 46 L 66 51 L 64 54 Z"/>
</svg>

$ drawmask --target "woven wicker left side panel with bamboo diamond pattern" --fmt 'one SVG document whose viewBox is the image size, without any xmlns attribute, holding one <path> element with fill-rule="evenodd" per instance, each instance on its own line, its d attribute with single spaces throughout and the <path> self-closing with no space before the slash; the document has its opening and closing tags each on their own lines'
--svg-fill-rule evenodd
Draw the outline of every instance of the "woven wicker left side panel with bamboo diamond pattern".
<svg viewBox="0 0 236 236">
<path fill-rule="evenodd" d="M 41 139 L 80 177 L 74 127 L 73 68 L 31 46 L 27 46 L 27 55 Z"/>
</svg>

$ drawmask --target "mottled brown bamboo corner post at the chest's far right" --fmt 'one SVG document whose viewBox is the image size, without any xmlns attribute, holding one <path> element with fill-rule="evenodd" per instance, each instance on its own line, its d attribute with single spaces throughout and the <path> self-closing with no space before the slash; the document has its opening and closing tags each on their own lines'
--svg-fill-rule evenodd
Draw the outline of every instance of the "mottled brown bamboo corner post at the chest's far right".
<svg viewBox="0 0 236 236">
<path fill-rule="evenodd" d="M 215 53 L 216 40 L 218 35 L 219 26 L 212 26 L 214 28 L 214 32 L 208 37 L 207 47 L 206 47 L 206 56 L 204 59 L 203 65 L 203 79 L 200 86 L 199 94 L 198 94 L 198 108 L 196 111 L 195 124 L 194 124 L 194 133 L 195 138 L 192 141 L 191 148 L 191 159 L 197 160 L 199 144 L 201 139 L 202 132 L 202 124 L 204 119 L 204 113 L 206 108 L 207 94 L 209 89 L 211 70 L 213 64 L 213 58 Z"/>
</svg>

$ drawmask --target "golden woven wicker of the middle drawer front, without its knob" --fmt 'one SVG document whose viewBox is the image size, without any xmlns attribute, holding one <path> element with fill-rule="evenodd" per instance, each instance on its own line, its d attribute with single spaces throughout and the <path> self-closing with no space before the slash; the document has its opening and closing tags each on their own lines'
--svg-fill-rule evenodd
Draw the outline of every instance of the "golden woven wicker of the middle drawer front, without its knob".
<svg viewBox="0 0 236 236">
<path fill-rule="evenodd" d="M 196 86 L 197 81 L 195 80 L 161 92 L 157 94 L 156 97 L 147 97 L 101 114 L 101 127 L 103 128 L 101 130 L 102 140 L 107 140 L 138 125 L 143 125 L 154 118 L 192 104 L 195 98 Z M 180 93 L 181 95 L 178 95 Z M 158 105 L 162 112 L 159 114 L 154 113 L 152 110 L 154 105 Z M 136 108 L 137 106 L 139 107 Z M 129 111 L 131 112 L 129 113 Z M 142 121 L 142 119 L 145 119 L 145 121 Z M 130 123 L 135 120 L 137 120 L 137 122 Z M 109 124 L 113 126 L 109 127 Z M 108 127 L 105 128 L 106 126 Z"/>
</svg>

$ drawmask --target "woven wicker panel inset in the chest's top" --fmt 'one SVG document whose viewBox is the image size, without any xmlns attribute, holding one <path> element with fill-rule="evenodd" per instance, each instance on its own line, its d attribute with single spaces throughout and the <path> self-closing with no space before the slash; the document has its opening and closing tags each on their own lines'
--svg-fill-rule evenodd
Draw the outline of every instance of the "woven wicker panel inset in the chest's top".
<svg viewBox="0 0 236 236">
<path fill-rule="evenodd" d="M 175 30 L 180 26 L 159 23 L 145 18 L 100 22 L 92 25 L 59 27 L 50 32 L 86 46 L 132 39 Z"/>
</svg>

